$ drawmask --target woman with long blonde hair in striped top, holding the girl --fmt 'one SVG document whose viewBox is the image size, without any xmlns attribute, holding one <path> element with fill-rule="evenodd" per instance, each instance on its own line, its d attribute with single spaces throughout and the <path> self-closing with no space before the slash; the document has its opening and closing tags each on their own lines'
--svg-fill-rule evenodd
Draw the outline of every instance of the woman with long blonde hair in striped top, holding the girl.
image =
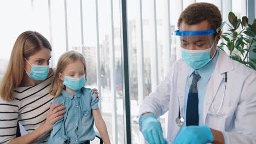
<svg viewBox="0 0 256 144">
<path fill-rule="evenodd" d="M 51 45 L 38 32 L 16 39 L 0 87 L 0 143 L 47 143 L 54 123 L 63 118 L 66 106 L 50 107 L 50 58 Z M 28 134 L 16 137 L 18 122 Z"/>
</svg>

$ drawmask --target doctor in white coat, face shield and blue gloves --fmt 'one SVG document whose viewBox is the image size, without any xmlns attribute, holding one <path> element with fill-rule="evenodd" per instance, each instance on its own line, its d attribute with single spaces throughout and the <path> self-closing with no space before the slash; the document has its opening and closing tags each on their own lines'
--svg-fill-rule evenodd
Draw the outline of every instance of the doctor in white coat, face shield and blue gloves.
<svg viewBox="0 0 256 144">
<path fill-rule="evenodd" d="M 217 49 L 222 16 L 194 3 L 179 16 L 182 59 L 140 107 L 151 143 L 256 143 L 256 73 Z M 158 117 L 168 111 L 167 141 Z"/>
</svg>

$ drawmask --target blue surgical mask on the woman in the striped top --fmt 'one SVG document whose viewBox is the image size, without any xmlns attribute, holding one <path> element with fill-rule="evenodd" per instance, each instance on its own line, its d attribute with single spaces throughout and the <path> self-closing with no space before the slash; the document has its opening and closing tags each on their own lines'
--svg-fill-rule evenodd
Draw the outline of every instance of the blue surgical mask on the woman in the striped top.
<svg viewBox="0 0 256 144">
<path fill-rule="evenodd" d="M 28 62 L 28 64 L 31 65 L 31 72 L 28 73 L 26 69 L 25 71 L 31 79 L 38 80 L 38 81 L 46 79 L 46 77 L 49 74 L 49 65 L 36 65 L 36 64 L 31 64 L 30 62 Z"/>
</svg>

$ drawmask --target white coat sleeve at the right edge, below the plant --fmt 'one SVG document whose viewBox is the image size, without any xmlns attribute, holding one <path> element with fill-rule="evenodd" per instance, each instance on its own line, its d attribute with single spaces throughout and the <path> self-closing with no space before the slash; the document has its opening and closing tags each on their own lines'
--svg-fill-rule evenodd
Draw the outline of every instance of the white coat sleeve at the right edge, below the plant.
<svg viewBox="0 0 256 144">
<path fill-rule="evenodd" d="M 247 77 L 235 112 L 235 132 L 223 131 L 228 143 L 256 143 L 256 74 Z"/>
</svg>

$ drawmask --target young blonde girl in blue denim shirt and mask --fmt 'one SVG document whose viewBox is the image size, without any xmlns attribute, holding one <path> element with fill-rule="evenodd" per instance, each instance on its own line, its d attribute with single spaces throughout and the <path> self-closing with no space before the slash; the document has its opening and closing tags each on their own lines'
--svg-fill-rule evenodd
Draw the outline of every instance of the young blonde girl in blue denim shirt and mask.
<svg viewBox="0 0 256 144">
<path fill-rule="evenodd" d="M 85 83 L 83 55 L 75 51 L 64 53 L 57 63 L 50 91 L 55 97 L 53 104 L 65 105 L 66 113 L 54 124 L 49 143 L 90 143 L 96 136 L 94 120 L 103 142 L 110 143 L 96 94 L 85 88 Z"/>
</svg>

